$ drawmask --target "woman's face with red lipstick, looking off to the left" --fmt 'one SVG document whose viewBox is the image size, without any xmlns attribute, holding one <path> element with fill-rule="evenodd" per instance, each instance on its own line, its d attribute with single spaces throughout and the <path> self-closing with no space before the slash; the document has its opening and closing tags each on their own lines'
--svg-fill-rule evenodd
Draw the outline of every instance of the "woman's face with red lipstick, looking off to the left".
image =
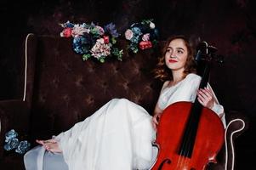
<svg viewBox="0 0 256 170">
<path fill-rule="evenodd" d="M 165 54 L 165 63 L 172 71 L 185 70 L 185 63 L 188 57 L 188 49 L 183 39 L 172 40 Z"/>
</svg>

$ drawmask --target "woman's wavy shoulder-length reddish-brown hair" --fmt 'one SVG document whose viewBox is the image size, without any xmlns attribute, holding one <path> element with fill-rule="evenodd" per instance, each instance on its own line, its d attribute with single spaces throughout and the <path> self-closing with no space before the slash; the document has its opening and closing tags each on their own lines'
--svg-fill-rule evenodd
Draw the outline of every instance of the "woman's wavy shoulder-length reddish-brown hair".
<svg viewBox="0 0 256 170">
<path fill-rule="evenodd" d="M 186 77 L 186 75 L 188 75 L 189 73 L 196 73 L 196 62 L 194 60 L 194 50 L 189 40 L 183 35 L 169 37 L 167 42 L 165 42 L 164 47 L 162 48 L 161 57 L 158 60 L 156 69 L 154 70 L 155 78 L 159 78 L 162 82 L 167 80 L 173 80 L 172 71 L 165 64 L 165 54 L 167 52 L 169 43 L 174 39 L 182 39 L 185 42 L 185 46 L 188 50 L 188 57 L 185 63 L 184 77 Z"/>
</svg>

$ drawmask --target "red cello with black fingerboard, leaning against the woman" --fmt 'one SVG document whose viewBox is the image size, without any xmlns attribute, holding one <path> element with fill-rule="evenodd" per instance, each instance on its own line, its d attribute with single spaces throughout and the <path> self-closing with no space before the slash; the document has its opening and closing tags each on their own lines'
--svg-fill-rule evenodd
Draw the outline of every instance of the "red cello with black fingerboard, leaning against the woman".
<svg viewBox="0 0 256 170">
<path fill-rule="evenodd" d="M 203 62 L 202 80 L 199 88 L 208 85 L 213 61 L 222 62 L 216 54 L 217 48 L 200 42 L 196 61 Z M 199 101 L 176 102 L 162 112 L 156 133 L 159 149 L 151 170 L 204 170 L 216 156 L 224 143 L 224 125 L 212 110 Z"/>
</svg>

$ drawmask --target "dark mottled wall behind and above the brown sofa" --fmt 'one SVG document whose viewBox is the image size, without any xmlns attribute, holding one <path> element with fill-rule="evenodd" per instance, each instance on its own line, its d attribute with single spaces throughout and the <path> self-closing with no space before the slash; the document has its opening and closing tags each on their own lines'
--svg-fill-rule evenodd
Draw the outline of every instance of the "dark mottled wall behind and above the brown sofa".
<svg viewBox="0 0 256 170">
<path fill-rule="evenodd" d="M 225 111 L 238 111 L 249 128 L 236 139 L 236 168 L 253 169 L 256 158 L 256 1 L 253 0 L 23 0 L 0 2 L 0 99 L 19 94 L 17 60 L 26 34 L 60 36 L 59 23 L 113 22 L 122 33 L 132 23 L 154 19 L 162 40 L 173 34 L 198 37 L 219 49 L 225 63 L 213 65 L 211 85 Z M 49 49 L 50 50 L 50 49 Z"/>
</svg>

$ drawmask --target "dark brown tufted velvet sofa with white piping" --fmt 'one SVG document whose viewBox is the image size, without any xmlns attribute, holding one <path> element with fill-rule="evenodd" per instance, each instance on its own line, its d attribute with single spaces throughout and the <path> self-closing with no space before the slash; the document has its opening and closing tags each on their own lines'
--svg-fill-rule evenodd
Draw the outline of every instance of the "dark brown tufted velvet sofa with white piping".
<svg viewBox="0 0 256 170">
<path fill-rule="evenodd" d="M 154 79 L 159 47 L 131 54 L 128 42 L 118 40 L 123 48 L 122 61 L 106 59 L 104 64 L 82 61 L 71 48 L 71 39 L 28 34 L 20 58 L 20 96 L 0 101 L 0 168 L 25 169 L 23 156 L 3 150 L 4 134 L 14 128 L 35 145 L 35 139 L 49 139 L 97 111 L 113 98 L 126 98 L 152 113 L 162 82 Z M 232 139 L 242 133 L 244 123 L 236 114 L 226 113 L 231 122 L 227 136 L 228 169 L 233 166 Z M 224 144 L 225 146 L 225 144 Z M 219 162 L 210 169 L 225 169 L 225 147 Z"/>
</svg>

